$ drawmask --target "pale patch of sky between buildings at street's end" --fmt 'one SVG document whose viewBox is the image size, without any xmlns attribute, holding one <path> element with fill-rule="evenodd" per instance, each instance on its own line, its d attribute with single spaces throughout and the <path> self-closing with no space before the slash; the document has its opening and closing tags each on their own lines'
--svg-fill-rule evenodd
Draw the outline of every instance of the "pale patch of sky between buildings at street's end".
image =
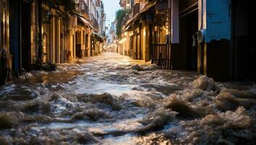
<svg viewBox="0 0 256 145">
<path fill-rule="evenodd" d="M 104 4 L 104 11 L 107 14 L 106 26 L 109 27 L 111 22 L 115 20 L 115 12 L 121 9 L 119 5 L 120 0 L 102 0 Z"/>
</svg>

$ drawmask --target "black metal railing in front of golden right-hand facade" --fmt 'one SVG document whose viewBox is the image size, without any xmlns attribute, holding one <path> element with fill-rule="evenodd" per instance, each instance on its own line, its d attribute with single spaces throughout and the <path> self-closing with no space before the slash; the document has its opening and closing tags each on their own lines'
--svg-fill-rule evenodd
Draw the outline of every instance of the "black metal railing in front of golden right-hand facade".
<svg viewBox="0 0 256 145">
<path fill-rule="evenodd" d="M 170 49 L 166 43 L 152 44 L 152 64 L 170 70 Z"/>
</svg>

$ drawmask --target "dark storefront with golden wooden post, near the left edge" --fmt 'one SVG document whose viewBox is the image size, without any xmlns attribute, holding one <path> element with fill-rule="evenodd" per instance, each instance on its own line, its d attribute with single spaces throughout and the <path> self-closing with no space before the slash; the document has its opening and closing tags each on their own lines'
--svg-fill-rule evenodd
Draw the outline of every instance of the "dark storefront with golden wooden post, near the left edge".
<svg viewBox="0 0 256 145">
<path fill-rule="evenodd" d="M 9 0 L 9 28 L 14 72 L 33 69 L 38 55 L 38 1 Z"/>
</svg>

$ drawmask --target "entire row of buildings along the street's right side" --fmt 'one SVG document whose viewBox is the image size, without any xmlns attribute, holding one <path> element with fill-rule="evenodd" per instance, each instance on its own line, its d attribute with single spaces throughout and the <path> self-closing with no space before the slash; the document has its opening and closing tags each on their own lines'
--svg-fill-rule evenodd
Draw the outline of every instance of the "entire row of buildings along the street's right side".
<svg viewBox="0 0 256 145">
<path fill-rule="evenodd" d="M 128 1 L 120 1 L 127 9 Z M 134 1 L 120 54 L 217 81 L 255 80 L 254 1 Z M 251 12 L 252 11 L 252 12 Z"/>
</svg>

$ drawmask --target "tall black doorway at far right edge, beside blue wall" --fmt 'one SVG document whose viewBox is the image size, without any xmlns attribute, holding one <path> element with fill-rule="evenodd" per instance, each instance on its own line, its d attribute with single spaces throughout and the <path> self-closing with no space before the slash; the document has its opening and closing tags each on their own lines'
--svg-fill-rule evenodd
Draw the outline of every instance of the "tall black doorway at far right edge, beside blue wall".
<svg viewBox="0 0 256 145">
<path fill-rule="evenodd" d="M 256 80 L 255 1 L 233 0 L 233 80 Z"/>
</svg>

